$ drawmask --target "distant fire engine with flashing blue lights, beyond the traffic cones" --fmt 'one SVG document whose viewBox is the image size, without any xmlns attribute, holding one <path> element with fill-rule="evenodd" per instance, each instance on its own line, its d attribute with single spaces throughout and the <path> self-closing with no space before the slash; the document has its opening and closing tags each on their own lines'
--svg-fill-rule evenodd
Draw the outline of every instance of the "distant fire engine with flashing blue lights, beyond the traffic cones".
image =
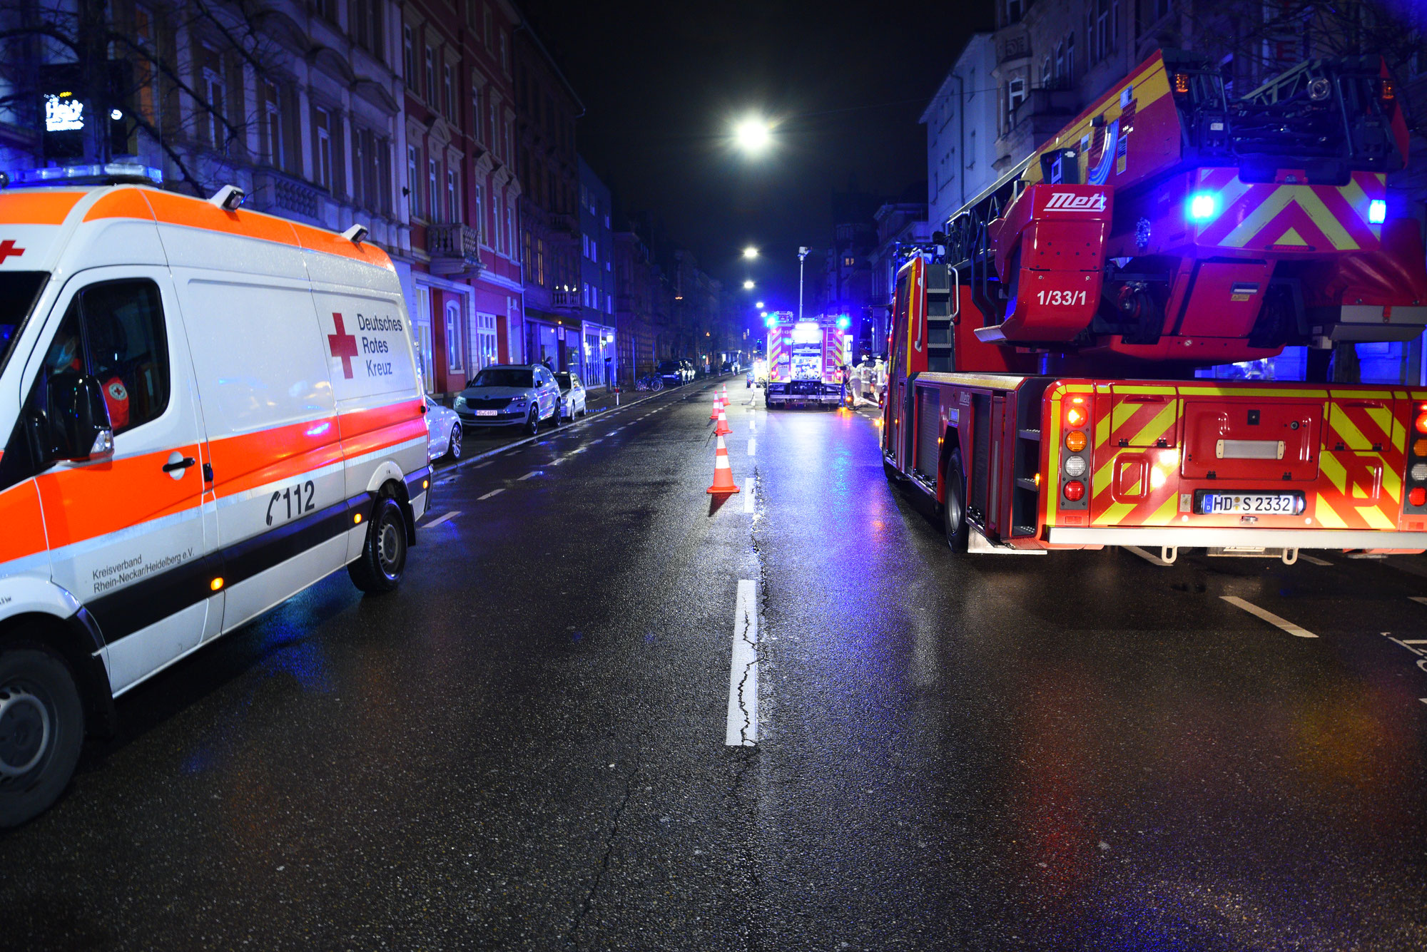
<svg viewBox="0 0 1427 952">
<path fill-rule="evenodd" d="M 798 321 L 791 311 L 768 315 L 768 389 L 763 405 L 842 406 L 842 368 L 850 363 L 846 316 Z"/>
</svg>

